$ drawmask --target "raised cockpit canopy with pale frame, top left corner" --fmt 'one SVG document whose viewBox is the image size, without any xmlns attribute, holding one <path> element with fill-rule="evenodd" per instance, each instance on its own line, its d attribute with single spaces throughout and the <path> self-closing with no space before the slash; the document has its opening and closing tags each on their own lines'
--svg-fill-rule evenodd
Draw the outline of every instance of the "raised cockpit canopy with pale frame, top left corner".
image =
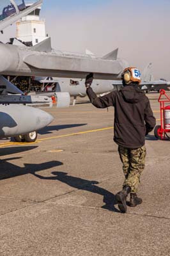
<svg viewBox="0 0 170 256">
<path fill-rule="evenodd" d="M 9 7 L 10 5 L 8 5 L 4 6 L 4 8 L 8 8 L 8 12 L 4 12 L 4 9 L 2 10 L 3 12 L 0 15 L 0 31 L 3 31 L 4 28 L 7 28 L 8 26 L 15 23 L 17 20 L 36 10 L 36 8 L 42 5 L 43 0 L 36 1 L 36 3 L 31 5 L 29 8 L 26 8 L 24 0 L 20 5 L 17 5 L 17 3 L 15 3 L 15 0 L 10 0 L 6 2 L 11 3 L 11 8 Z"/>
</svg>

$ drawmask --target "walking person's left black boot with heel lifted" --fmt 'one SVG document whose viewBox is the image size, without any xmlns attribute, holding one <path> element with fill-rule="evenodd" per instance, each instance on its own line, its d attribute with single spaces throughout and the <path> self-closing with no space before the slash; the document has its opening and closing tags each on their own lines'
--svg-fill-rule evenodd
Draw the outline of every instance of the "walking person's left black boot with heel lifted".
<svg viewBox="0 0 170 256">
<path fill-rule="evenodd" d="M 121 212 L 127 212 L 127 196 L 130 193 L 130 187 L 125 186 L 123 190 L 116 194 L 116 200 L 118 202 L 118 207 Z"/>
</svg>

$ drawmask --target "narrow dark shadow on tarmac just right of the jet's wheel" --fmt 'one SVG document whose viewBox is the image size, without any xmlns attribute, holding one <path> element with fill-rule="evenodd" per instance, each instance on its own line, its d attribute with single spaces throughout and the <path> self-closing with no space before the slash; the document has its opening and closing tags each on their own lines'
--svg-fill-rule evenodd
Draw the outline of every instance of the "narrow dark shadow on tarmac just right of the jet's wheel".
<svg viewBox="0 0 170 256">
<path fill-rule="evenodd" d="M 49 134 L 49 133 L 52 133 L 52 131 L 59 131 L 62 129 L 68 129 L 68 128 L 73 128 L 73 127 L 80 127 L 83 125 L 87 125 L 87 124 L 50 125 L 50 126 L 43 128 L 42 130 L 38 131 L 38 133 L 39 134 Z"/>
</svg>

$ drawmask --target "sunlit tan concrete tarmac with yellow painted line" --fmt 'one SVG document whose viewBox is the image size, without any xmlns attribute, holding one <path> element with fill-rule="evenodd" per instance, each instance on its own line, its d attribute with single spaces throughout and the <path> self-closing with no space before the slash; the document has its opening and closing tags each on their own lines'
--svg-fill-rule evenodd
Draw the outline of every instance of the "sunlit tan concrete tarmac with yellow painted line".
<svg viewBox="0 0 170 256">
<path fill-rule="evenodd" d="M 158 93 L 149 93 L 157 124 Z M 120 213 L 114 109 L 45 109 L 36 143 L 0 140 L 0 255 L 170 255 L 170 141 L 146 138 L 143 204 Z"/>
</svg>

